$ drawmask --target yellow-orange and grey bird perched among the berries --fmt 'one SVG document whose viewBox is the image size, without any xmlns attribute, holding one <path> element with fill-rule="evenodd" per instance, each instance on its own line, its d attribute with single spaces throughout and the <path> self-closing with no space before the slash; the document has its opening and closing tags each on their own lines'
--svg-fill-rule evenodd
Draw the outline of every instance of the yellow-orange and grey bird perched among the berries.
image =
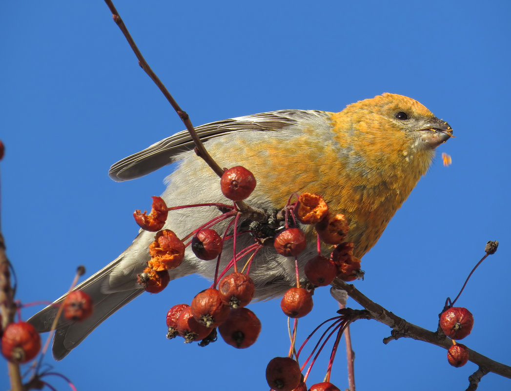
<svg viewBox="0 0 511 391">
<path fill-rule="evenodd" d="M 196 132 L 220 167 L 243 166 L 254 174 L 257 186 L 245 200 L 248 205 L 278 211 L 292 193 L 321 195 L 330 210 L 346 216 L 350 226 L 346 241 L 353 242 L 357 258 L 376 244 L 428 171 L 436 147 L 453 135 L 451 126 L 424 105 L 390 93 L 347 105 L 340 112 L 277 110 L 208 123 L 196 127 Z M 177 162 L 161 195 L 168 206 L 228 201 L 219 177 L 193 149 L 190 134 L 181 131 L 115 163 L 109 176 L 115 181 L 131 180 Z M 182 238 L 219 214 L 211 206 L 171 211 L 164 228 Z M 226 221 L 220 223 L 218 232 L 226 227 Z M 237 248 L 253 240 L 240 236 Z M 59 319 L 53 342 L 56 360 L 144 292 L 137 274 L 147 266 L 152 241 L 154 233 L 140 230 L 117 259 L 76 287 L 91 296 L 95 311 L 81 322 Z M 326 254 L 331 250 L 321 249 Z M 298 257 L 301 275 L 306 261 L 316 254 L 312 236 Z M 231 255 L 222 253 L 221 267 Z M 215 267 L 215 261 L 199 260 L 187 248 L 183 263 L 169 270 L 170 279 L 198 273 L 213 280 Z M 257 300 L 282 295 L 296 283 L 294 258 L 265 246 L 252 261 L 250 277 Z M 64 297 L 32 316 L 29 323 L 38 332 L 50 331 Z"/>
</svg>

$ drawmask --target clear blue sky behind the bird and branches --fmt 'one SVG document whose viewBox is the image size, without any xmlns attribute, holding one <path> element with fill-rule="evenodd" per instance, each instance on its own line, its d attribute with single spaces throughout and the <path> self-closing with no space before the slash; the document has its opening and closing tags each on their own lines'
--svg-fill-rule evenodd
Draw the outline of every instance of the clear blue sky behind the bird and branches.
<svg viewBox="0 0 511 391">
<path fill-rule="evenodd" d="M 116 6 L 195 125 L 283 108 L 339 111 L 383 92 L 417 99 L 448 121 L 456 138 L 438 148 L 428 174 L 363 258 L 366 278 L 356 285 L 394 313 L 435 329 L 446 297 L 457 294 L 486 241 L 499 240 L 497 254 L 477 270 L 458 304 L 475 318 L 463 343 L 511 364 L 508 2 Z M 147 208 L 169 173 L 115 183 L 110 165 L 183 126 L 103 2 L 3 2 L 0 36 L 2 231 L 19 300 L 53 300 L 77 265 L 90 275 L 131 243 L 133 210 Z M 443 167 L 442 152 L 452 166 Z M 263 324 L 250 349 L 165 339 L 167 310 L 207 286 L 193 276 L 144 294 L 63 361 L 47 362 L 80 390 L 267 389 L 267 362 L 288 351 L 277 301 L 250 305 Z M 35 310 L 24 310 L 24 317 Z M 317 290 L 313 312 L 300 323 L 302 336 L 335 310 L 328 289 Z M 375 321 L 353 325 L 358 389 L 464 389 L 477 370 L 470 362 L 454 369 L 445 350 L 426 343 L 384 345 L 389 333 Z M 344 389 L 340 351 L 332 381 Z M 325 369 L 318 363 L 308 384 L 322 381 Z M 59 379 L 48 381 L 66 389 Z M 7 384 L 5 369 L 0 384 Z M 478 389 L 510 385 L 490 374 Z"/>
</svg>

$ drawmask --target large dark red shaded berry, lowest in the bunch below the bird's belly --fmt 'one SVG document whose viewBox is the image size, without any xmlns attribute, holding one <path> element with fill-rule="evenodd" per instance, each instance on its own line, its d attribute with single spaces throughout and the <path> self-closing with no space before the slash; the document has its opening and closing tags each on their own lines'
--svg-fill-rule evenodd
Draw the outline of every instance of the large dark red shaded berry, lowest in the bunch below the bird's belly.
<svg viewBox="0 0 511 391">
<path fill-rule="evenodd" d="M 229 345 L 245 349 L 257 340 L 261 321 L 248 308 L 230 310 L 229 317 L 219 327 L 220 335 Z"/>
</svg>

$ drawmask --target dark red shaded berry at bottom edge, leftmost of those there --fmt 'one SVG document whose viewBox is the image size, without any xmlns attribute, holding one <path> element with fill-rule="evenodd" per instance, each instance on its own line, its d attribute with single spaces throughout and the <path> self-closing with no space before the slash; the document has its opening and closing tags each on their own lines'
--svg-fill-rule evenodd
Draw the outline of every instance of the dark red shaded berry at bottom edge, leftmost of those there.
<svg viewBox="0 0 511 391">
<path fill-rule="evenodd" d="M 275 357 L 266 367 L 266 381 L 275 391 L 291 391 L 302 379 L 300 366 L 289 357 Z"/>
</svg>

